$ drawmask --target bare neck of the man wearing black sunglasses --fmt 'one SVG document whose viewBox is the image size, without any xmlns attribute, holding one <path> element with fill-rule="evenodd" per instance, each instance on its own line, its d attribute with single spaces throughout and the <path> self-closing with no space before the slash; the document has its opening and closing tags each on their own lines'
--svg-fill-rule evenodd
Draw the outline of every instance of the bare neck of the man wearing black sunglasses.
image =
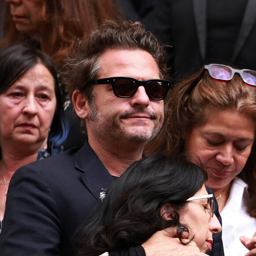
<svg viewBox="0 0 256 256">
<path fill-rule="evenodd" d="M 142 158 L 144 143 L 111 143 L 88 139 L 90 147 L 104 164 L 109 173 L 120 177 L 135 161 Z"/>
</svg>

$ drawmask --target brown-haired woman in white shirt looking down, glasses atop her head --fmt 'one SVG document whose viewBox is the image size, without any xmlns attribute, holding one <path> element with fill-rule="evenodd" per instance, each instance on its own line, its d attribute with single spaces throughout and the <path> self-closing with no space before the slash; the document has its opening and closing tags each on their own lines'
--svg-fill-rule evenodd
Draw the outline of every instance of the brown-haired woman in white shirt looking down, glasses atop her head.
<svg viewBox="0 0 256 256">
<path fill-rule="evenodd" d="M 256 255 L 256 72 L 205 65 L 170 92 L 165 117 L 146 152 L 196 153 L 218 200 L 225 255 Z"/>
</svg>

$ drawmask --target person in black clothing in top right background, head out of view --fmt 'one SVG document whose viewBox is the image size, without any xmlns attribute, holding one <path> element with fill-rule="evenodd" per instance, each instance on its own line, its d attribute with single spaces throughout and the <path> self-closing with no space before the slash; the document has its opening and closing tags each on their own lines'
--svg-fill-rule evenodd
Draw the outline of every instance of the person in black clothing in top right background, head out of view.
<svg viewBox="0 0 256 256">
<path fill-rule="evenodd" d="M 141 23 L 170 45 L 167 66 L 183 79 L 209 63 L 256 70 L 255 10 L 255 0 L 156 0 Z"/>
</svg>

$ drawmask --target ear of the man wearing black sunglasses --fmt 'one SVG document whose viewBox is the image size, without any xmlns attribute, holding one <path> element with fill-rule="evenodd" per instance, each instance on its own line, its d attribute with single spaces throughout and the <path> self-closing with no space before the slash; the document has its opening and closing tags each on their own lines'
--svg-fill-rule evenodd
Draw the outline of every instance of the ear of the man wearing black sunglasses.
<svg viewBox="0 0 256 256">
<path fill-rule="evenodd" d="M 87 96 L 75 90 L 72 95 L 72 102 L 74 105 L 75 113 L 82 119 L 87 119 L 89 115 L 89 105 Z"/>
</svg>

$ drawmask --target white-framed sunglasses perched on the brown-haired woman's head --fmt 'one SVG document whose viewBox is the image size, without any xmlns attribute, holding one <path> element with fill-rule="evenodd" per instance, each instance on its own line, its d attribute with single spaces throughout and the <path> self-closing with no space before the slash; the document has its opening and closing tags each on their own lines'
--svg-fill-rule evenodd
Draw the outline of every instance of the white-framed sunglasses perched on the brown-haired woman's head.
<svg viewBox="0 0 256 256">
<path fill-rule="evenodd" d="M 218 81 L 230 81 L 237 73 L 241 79 L 248 85 L 256 86 L 256 71 L 250 69 L 236 69 L 222 64 L 204 65 L 204 68 L 198 76 L 197 83 L 202 79 L 205 71 L 209 72 L 211 78 Z M 196 83 L 196 84 L 197 84 Z M 195 86 L 196 86 L 195 84 Z"/>
</svg>

